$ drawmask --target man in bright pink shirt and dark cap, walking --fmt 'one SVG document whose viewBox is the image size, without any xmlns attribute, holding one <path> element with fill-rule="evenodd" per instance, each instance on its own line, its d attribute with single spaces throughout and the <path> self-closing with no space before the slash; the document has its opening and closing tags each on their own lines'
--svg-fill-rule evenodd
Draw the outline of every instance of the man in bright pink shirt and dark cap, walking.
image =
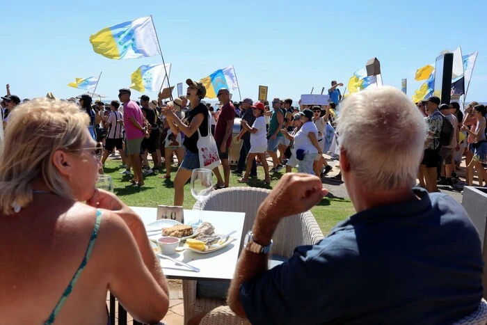
<svg viewBox="0 0 487 325">
<path fill-rule="evenodd" d="M 141 108 L 136 102 L 130 100 L 131 91 L 128 88 L 118 90 L 118 98 L 123 103 L 123 124 L 125 127 L 125 136 L 127 136 L 127 153 L 131 167 L 134 169 L 134 178 L 131 183 L 141 187 L 144 184 L 142 177 L 142 166 L 140 159 L 141 143 L 147 132 L 147 127 L 143 122 Z"/>
</svg>

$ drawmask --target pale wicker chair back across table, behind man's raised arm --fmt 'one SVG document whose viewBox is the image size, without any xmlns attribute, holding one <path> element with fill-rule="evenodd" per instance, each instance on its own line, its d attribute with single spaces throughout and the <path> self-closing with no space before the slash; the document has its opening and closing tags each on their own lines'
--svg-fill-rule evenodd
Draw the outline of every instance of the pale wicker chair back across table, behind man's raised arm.
<svg viewBox="0 0 487 325">
<path fill-rule="evenodd" d="M 214 191 L 201 203 L 202 210 L 245 212 L 244 231 L 240 249 L 244 246 L 244 237 L 252 229 L 257 209 L 269 195 L 268 189 L 256 187 L 230 187 Z M 303 212 L 282 219 L 273 235 L 272 253 L 291 257 L 296 246 L 312 245 L 323 239 L 323 233 L 311 212 Z"/>
</svg>

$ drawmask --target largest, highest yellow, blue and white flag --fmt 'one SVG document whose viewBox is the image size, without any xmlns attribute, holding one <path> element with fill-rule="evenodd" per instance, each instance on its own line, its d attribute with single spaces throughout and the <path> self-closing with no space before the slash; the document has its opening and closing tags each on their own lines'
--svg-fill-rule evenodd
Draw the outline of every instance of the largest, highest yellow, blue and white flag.
<svg viewBox="0 0 487 325">
<path fill-rule="evenodd" d="M 90 36 L 93 51 L 106 58 L 147 58 L 161 54 L 152 17 L 106 27 Z"/>
</svg>

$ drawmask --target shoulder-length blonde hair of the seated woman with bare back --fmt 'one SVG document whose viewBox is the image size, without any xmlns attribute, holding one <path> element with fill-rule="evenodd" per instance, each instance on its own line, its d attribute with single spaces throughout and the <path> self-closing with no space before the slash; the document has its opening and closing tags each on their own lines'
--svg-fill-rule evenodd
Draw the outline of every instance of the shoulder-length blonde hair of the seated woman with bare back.
<svg viewBox="0 0 487 325">
<path fill-rule="evenodd" d="M 90 119 L 76 104 L 36 98 L 18 105 L 6 127 L 0 152 L 0 209 L 13 213 L 13 203 L 25 207 L 32 200 L 33 182 L 40 179 L 49 191 L 72 198 L 64 178 L 52 164 L 59 149 L 83 145 Z"/>
</svg>

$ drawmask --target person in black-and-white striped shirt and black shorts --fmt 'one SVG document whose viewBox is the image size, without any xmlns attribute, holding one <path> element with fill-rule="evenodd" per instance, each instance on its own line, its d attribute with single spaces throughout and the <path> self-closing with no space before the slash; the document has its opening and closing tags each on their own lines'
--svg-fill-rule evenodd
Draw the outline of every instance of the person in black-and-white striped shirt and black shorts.
<svg viewBox="0 0 487 325">
<path fill-rule="evenodd" d="M 122 164 L 125 165 L 126 157 L 123 150 L 123 115 L 118 111 L 120 102 L 118 100 L 112 100 L 110 104 L 110 114 L 106 118 L 106 126 L 108 127 L 108 134 L 106 135 L 105 151 L 103 152 L 102 164 L 105 164 L 106 158 L 109 157 L 113 148 L 117 148 L 122 158 Z"/>
</svg>

